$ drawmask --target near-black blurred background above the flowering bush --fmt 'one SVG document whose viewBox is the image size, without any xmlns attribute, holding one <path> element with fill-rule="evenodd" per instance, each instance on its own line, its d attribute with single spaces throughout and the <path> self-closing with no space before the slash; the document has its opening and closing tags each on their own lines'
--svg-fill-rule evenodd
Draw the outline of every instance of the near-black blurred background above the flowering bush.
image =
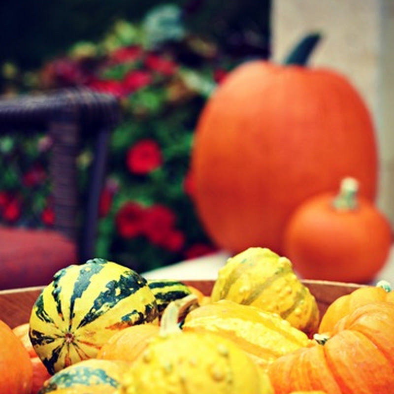
<svg viewBox="0 0 394 394">
<path fill-rule="evenodd" d="M 77 41 L 97 41 L 117 20 L 140 21 L 163 0 L 2 0 L 0 64 L 36 68 Z M 192 32 L 213 40 L 226 53 L 265 57 L 269 0 L 173 0 Z"/>
</svg>

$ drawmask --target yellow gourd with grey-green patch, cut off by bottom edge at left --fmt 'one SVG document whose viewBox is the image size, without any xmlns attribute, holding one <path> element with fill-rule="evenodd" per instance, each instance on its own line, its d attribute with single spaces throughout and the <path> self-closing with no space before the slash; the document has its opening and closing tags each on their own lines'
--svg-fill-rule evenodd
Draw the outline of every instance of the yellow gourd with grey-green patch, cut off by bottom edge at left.
<svg viewBox="0 0 394 394">
<path fill-rule="evenodd" d="M 45 381 L 38 394 L 106 393 L 115 394 L 122 387 L 123 374 L 130 367 L 125 361 L 84 360 L 70 365 Z"/>
</svg>

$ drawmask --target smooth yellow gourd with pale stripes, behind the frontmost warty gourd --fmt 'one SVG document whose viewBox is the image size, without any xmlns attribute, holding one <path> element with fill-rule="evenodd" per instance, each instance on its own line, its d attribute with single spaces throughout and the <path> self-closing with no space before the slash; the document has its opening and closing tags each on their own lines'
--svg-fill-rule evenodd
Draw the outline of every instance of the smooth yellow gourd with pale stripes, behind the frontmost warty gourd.
<svg viewBox="0 0 394 394">
<path fill-rule="evenodd" d="M 311 340 L 279 315 L 222 299 L 188 313 L 185 332 L 211 331 L 237 343 L 264 370 L 278 357 Z"/>
</svg>

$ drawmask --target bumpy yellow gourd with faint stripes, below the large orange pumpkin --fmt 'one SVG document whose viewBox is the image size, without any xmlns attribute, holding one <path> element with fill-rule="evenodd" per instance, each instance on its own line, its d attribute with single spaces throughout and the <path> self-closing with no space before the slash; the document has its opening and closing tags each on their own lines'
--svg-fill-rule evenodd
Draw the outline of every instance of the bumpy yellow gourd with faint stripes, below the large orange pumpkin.
<svg viewBox="0 0 394 394">
<path fill-rule="evenodd" d="M 308 334 L 319 324 L 315 297 L 297 278 L 290 260 L 268 248 L 251 247 L 228 259 L 212 289 L 211 300 L 219 299 L 277 313 Z"/>
</svg>

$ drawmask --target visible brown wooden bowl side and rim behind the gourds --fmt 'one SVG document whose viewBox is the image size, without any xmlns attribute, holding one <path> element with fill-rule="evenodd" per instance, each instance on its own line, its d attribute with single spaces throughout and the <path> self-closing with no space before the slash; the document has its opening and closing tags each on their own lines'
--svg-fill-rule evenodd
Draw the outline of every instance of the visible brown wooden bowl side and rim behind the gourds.
<svg viewBox="0 0 394 394">
<path fill-rule="evenodd" d="M 213 280 L 185 280 L 187 285 L 191 285 L 209 295 L 214 284 Z M 353 283 L 328 282 L 321 280 L 302 281 L 315 296 L 319 305 L 320 314 L 326 311 L 328 305 L 345 294 L 352 293 L 360 285 Z M 37 296 L 42 287 L 31 287 L 24 289 L 12 289 L 0 291 L 0 320 L 14 328 L 20 324 L 29 322 L 30 313 Z"/>
</svg>

